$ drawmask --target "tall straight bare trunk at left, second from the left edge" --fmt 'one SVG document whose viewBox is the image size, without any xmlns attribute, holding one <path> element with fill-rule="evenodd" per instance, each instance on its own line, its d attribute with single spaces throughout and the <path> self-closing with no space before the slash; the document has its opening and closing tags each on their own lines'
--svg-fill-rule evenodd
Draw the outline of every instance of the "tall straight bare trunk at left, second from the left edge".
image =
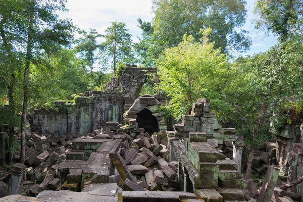
<svg viewBox="0 0 303 202">
<path fill-rule="evenodd" d="M 28 26 L 26 64 L 25 64 L 24 80 L 23 80 L 23 112 L 22 112 L 22 120 L 21 120 L 21 154 L 20 154 L 20 162 L 22 164 L 24 164 L 24 161 L 25 161 L 25 124 L 26 124 L 27 102 L 28 102 L 27 84 L 28 84 L 29 66 L 30 66 L 30 61 L 31 61 L 33 17 L 34 17 L 34 15 L 31 13 L 29 26 Z"/>
</svg>

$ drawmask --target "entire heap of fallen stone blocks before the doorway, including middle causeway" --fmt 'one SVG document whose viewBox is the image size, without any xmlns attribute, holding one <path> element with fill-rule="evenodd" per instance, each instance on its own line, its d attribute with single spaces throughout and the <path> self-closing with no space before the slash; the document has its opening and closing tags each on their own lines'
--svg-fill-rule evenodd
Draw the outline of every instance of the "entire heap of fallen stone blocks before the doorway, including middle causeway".
<svg viewBox="0 0 303 202">
<path fill-rule="evenodd" d="M 80 137 L 33 133 L 26 150 L 28 194 L 49 190 L 81 191 L 95 183 L 117 183 L 123 190 L 177 191 L 177 162 L 169 158 L 166 136 L 141 131 L 132 136 L 108 122 Z M 116 171 L 115 171 L 116 170 Z"/>
</svg>

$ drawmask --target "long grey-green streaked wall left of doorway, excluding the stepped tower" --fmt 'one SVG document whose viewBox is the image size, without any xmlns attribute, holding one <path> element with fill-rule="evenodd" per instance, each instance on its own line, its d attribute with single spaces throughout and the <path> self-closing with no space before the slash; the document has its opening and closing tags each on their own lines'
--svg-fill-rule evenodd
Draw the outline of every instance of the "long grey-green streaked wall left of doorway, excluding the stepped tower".
<svg viewBox="0 0 303 202">
<path fill-rule="evenodd" d="M 93 94 L 77 97 L 76 105 L 61 102 L 53 110 L 36 109 L 30 116 L 33 131 L 41 133 L 84 134 L 100 128 L 107 121 L 122 121 L 123 97 L 114 94 Z"/>
</svg>

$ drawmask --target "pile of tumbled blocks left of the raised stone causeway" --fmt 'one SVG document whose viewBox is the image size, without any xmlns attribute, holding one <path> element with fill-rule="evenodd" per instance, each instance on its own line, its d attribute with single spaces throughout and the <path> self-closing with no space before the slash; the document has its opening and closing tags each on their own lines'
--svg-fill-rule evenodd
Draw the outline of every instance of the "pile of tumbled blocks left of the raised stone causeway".
<svg viewBox="0 0 303 202">
<path fill-rule="evenodd" d="M 35 184 L 29 190 L 30 195 L 45 190 L 55 190 L 60 184 L 60 176 L 56 172 L 59 164 L 66 161 L 67 151 L 78 135 L 62 135 L 31 133 L 27 135 L 25 151 L 26 179 Z"/>
</svg>

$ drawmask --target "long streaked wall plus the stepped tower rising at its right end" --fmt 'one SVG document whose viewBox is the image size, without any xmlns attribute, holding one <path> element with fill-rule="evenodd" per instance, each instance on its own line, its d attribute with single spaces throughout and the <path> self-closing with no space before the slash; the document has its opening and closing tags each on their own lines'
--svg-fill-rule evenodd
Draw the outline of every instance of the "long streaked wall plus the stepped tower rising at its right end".
<svg viewBox="0 0 303 202">
<path fill-rule="evenodd" d="M 86 91 L 76 103 L 55 101 L 52 110 L 36 109 L 28 116 L 32 131 L 41 133 L 84 134 L 100 128 L 108 121 L 122 122 L 123 113 L 139 97 L 147 73 L 155 68 L 126 67 L 121 75 L 113 77 L 102 91 Z"/>
</svg>

